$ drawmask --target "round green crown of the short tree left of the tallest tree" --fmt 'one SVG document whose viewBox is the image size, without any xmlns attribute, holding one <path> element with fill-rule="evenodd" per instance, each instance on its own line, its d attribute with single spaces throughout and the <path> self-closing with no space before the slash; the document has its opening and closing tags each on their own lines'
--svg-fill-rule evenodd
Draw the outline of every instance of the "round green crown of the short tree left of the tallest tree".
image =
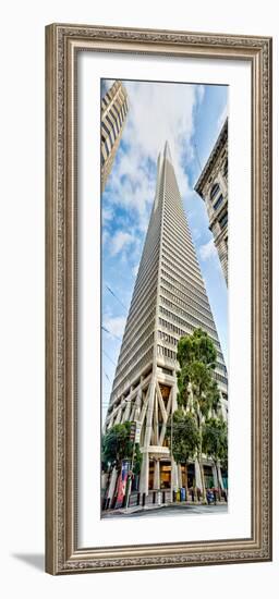
<svg viewBox="0 0 279 599">
<path fill-rule="evenodd" d="M 193 460 L 198 448 L 198 428 L 196 419 L 191 412 L 182 407 L 177 409 L 172 416 L 172 425 L 168 425 L 167 437 L 171 440 L 172 455 L 175 462 L 187 464 Z"/>
</svg>

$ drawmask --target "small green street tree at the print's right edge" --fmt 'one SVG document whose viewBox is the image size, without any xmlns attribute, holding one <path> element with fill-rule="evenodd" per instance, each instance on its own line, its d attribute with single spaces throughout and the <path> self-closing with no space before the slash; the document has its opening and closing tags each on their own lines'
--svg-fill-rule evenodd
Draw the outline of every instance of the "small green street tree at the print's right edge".
<svg viewBox="0 0 279 599">
<path fill-rule="evenodd" d="M 222 418 L 209 418 L 203 425 L 203 451 L 211 457 L 220 487 L 218 463 L 226 466 L 228 462 L 228 426 Z"/>
</svg>

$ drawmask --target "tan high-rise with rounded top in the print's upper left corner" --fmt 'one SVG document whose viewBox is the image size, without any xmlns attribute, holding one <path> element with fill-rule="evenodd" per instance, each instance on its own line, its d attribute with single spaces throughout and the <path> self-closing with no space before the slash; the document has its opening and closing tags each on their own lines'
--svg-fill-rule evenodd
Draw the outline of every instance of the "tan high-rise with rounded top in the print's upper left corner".
<svg viewBox="0 0 279 599">
<path fill-rule="evenodd" d="M 128 94 L 120 81 L 116 81 L 101 99 L 100 159 L 101 191 L 112 169 L 128 113 Z"/>
</svg>

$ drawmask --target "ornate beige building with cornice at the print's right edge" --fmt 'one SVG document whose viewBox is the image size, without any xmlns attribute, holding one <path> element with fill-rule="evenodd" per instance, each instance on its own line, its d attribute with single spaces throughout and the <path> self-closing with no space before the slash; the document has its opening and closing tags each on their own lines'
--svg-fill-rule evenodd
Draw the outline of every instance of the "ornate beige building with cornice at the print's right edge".
<svg viewBox="0 0 279 599">
<path fill-rule="evenodd" d="M 228 284 L 228 119 L 198 178 L 195 191 L 204 199 Z"/>
</svg>

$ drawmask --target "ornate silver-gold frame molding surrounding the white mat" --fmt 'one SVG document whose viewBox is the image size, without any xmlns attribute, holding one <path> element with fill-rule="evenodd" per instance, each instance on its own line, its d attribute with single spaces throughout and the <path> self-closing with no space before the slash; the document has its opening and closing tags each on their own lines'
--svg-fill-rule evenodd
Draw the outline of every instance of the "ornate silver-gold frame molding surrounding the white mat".
<svg viewBox="0 0 279 599">
<path fill-rule="evenodd" d="M 246 60 L 252 72 L 252 535 L 77 547 L 76 56 Z M 46 570 L 50 574 L 271 560 L 271 38 L 46 27 Z"/>
</svg>

